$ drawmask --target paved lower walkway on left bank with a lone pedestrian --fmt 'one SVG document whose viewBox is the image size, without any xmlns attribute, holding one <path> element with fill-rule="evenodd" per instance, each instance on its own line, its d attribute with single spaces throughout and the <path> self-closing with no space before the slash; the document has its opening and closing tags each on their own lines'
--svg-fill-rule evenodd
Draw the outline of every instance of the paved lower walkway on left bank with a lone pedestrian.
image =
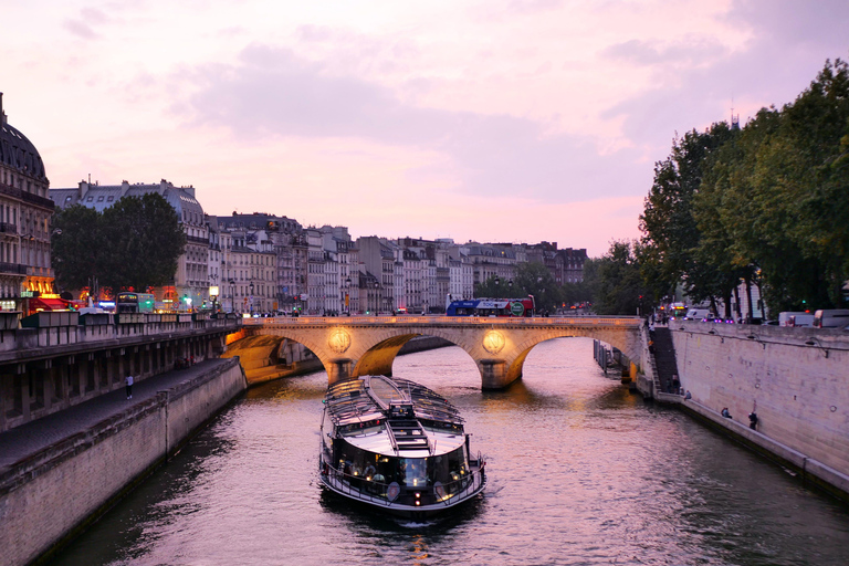
<svg viewBox="0 0 849 566">
<path fill-rule="evenodd" d="M 166 371 L 133 385 L 133 399 L 127 399 L 124 387 L 85 402 L 0 432 L 0 472 L 51 444 L 92 428 L 137 403 L 154 397 L 157 391 L 193 379 L 229 359 L 208 359 L 186 369 Z"/>
</svg>

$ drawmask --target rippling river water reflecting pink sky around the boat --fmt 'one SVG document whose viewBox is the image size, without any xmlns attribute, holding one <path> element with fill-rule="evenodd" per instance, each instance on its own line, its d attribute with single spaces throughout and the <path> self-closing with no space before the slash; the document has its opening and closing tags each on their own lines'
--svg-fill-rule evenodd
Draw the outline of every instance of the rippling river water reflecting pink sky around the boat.
<svg viewBox="0 0 849 566">
<path fill-rule="evenodd" d="M 595 365 L 593 343 L 534 348 L 483 392 L 460 348 L 399 357 L 488 458 L 478 501 L 428 522 L 321 489 L 324 373 L 251 389 L 77 538 L 63 565 L 846 565 L 849 510 Z"/>
</svg>

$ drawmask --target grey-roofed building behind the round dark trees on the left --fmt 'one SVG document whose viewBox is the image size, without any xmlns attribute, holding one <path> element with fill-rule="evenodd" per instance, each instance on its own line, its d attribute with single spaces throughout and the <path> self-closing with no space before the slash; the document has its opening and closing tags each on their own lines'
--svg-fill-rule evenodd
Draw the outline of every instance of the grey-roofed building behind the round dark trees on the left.
<svg viewBox="0 0 849 566">
<path fill-rule="evenodd" d="M 76 188 L 50 189 L 50 198 L 51 203 L 55 202 L 61 209 L 82 205 L 103 212 L 124 197 L 143 197 L 150 192 L 161 195 L 174 207 L 186 232 L 186 251 L 177 260 L 174 284 L 157 289 L 156 300 L 169 303 L 176 310 L 200 307 L 209 298 L 209 231 L 203 207 L 195 197 L 195 187 L 175 187 L 165 179 L 149 185 L 80 181 Z"/>
</svg>

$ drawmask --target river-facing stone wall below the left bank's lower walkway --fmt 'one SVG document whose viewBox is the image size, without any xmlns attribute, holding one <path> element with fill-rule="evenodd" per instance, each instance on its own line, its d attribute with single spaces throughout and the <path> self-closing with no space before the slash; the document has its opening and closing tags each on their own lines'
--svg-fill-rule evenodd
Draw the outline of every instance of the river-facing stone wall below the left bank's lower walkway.
<svg viewBox="0 0 849 566">
<path fill-rule="evenodd" d="M 238 359 L 33 454 L 0 478 L 2 563 L 22 565 L 105 512 L 247 388 Z"/>
</svg>

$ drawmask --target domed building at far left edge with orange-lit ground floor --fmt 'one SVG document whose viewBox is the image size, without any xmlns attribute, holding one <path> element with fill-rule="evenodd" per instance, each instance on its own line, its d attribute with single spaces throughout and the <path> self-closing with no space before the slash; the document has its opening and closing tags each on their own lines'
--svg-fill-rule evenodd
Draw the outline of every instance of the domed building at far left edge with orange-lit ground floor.
<svg viewBox="0 0 849 566">
<path fill-rule="evenodd" d="M 0 93 L 0 307 L 53 292 L 50 264 L 50 180 L 39 150 L 9 125 Z"/>
</svg>

